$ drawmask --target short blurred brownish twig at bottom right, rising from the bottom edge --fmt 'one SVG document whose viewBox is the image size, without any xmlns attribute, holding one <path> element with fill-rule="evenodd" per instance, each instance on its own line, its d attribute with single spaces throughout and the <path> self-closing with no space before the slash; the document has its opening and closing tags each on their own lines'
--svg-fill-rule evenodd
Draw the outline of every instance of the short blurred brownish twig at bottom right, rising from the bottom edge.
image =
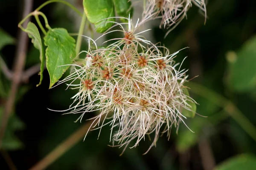
<svg viewBox="0 0 256 170">
<path fill-rule="evenodd" d="M 215 159 L 213 157 L 209 141 L 206 138 L 200 139 L 198 142 L 198 149 L 201 155 L 204 170 L 213 170 L 215 167 Z"/>
</svg>

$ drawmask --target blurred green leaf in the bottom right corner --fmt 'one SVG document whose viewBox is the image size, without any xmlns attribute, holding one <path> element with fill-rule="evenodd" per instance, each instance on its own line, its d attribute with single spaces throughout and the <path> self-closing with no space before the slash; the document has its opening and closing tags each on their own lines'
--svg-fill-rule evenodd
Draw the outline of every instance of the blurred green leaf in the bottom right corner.
<svg viewBox="0 0 256 170">
<path fill-rule="evenodd" d="M 214 170 L 255 170 L 255 168 L 256 156 L 242 154 L 224 161 L 215 167 Z"/>
</svg>

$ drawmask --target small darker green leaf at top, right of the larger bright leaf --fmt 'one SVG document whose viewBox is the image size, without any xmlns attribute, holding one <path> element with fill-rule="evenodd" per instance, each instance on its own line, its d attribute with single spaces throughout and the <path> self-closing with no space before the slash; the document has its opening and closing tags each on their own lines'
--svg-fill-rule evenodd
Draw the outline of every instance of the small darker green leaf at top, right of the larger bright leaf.
<svg viewBox="0 0 256 170">
<path fill-rule="evenodd" d="M 116 13 L 120 17 L 132 17 L 133 14 L 133 8 L 131 8 L 131 1 L 130 0 L 113 0 L 113 3 L 115 5 Z M 123 22 L 125 20 L 122 20 Z"/>
</svg>

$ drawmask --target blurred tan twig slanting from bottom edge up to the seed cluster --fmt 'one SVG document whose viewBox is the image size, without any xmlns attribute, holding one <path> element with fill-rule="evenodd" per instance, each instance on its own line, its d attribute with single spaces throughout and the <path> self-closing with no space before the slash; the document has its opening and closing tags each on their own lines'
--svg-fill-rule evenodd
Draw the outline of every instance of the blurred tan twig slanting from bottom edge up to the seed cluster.
<svg viewBox="0 0 256 170">
<path fill-rule="evenodd" d="M 47 156 L 39 161 L 30 170 L 43 170 L 47 168 L 50 164 L 56 161 L 60 156 L 67 152 L 71 147 L 73 147 L 79 140 L 81 140 L 87 133 L 93 120 L 86 122 L 82 127 L 80 127 L 76 132 L 71 134 L 64 142 L 59 144 L 52 150 Z"/>
</svg>

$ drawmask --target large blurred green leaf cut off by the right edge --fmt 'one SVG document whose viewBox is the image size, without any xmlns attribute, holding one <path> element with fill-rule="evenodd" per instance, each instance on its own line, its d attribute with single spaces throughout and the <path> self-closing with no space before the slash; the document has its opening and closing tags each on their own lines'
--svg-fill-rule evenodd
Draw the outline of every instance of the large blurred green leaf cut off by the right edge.
<svg viewBox="0 0 256 170">
<path fill-rule="evenodd" d="M 227 54 L 229 62 L 229 85 L 235 91 L 256 89 L 256 36 L 248 40 L 237 52 Z"/>
</svg>

